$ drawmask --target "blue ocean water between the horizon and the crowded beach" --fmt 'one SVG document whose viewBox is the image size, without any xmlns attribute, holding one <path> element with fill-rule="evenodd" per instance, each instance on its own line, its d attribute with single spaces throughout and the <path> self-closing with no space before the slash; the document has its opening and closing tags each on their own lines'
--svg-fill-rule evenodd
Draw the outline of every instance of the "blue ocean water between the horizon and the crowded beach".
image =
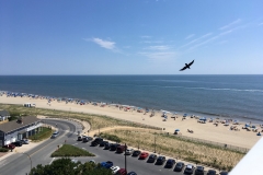
<svg viewBox="0 0 263 175">
<path fill-rule="evenodd" d="M 263 75 L 1 75 L 0 91 L 263 121 Z"/>
</svg>

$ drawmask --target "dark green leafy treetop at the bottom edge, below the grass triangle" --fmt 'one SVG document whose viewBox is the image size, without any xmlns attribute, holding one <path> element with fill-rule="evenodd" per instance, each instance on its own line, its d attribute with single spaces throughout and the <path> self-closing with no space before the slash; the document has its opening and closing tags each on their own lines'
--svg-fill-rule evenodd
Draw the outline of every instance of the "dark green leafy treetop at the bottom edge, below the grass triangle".
<svg viewBox="0 0 263 175">
<path fill-rule="evenodd" d="M 100 167 L 98 164 L 87 162 L 72 162 L 68 158 L 54 161 L 50 165 L 33 167 L 30 175 L 112 175 L 107 168 Z"/>
</svg>

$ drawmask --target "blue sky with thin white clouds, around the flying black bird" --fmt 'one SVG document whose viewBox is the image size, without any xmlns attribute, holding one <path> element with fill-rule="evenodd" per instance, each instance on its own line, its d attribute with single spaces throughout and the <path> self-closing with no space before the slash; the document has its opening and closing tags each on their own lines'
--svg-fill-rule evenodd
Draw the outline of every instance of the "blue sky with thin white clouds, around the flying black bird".
<svg viewBox="0 0 263 175">
<path fill-rule="evenodd" d="M 0 74 L 263 74 L 263 1 L 1 0 Z"/>
</svg>

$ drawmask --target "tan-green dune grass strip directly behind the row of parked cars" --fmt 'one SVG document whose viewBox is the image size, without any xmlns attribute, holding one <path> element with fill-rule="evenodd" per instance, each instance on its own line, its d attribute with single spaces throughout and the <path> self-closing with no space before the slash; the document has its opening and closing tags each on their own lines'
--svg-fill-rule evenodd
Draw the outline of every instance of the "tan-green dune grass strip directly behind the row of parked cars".
<svg viewBox="0 0 263 175">
<path fill-rule="evenodd" d="M 111 130 L 107 135 L 116 136 L 127 145 L 149 150 L 171 158 L 204 164 L 214 168 L 230 171 L 244 153 L 220 147 L 168 137 L 164 133 L 133 130 Z M 156 140 L 156 144 L 155 144 Z"/>
</svg>

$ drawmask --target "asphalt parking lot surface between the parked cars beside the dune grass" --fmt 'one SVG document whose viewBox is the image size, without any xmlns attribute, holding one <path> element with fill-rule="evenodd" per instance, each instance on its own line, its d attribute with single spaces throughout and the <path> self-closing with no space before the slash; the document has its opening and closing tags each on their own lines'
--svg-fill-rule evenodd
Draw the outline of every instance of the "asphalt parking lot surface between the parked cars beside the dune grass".
<svg viewBox="0 0 263 175">
<path fill-rule="evenodd" d="M 89 142 L 82 142 L 81 140 L 77 141 L 77 138 L 75 139 L 75 143 L 72 143 L 73 145 L 76 147 L 79 147 L 79 148 L 82 148 L 87 151 L 90 151 L 94 154 L 96 154 L 98 156 L 96 158 L 92 158 L 93 160 L 95 160 L 98 163 L 99 162 L 106 162 L 106 161 L 111 161 L 114 163 L 114 166 L 119 166 L 119 167 L 125 167 L 125 151 L 122 152 L 122 153 L 117 153 L 117 149 L 116 150 L 111 150 L 111 147 L 110 149 L 105 149 L 105 145 L 100 145 L 100 144 L 93 144 L 91 145 L 91 142 L 92 141 L 89 141 Z M 127 149 L 134 149 L 134 150 L 137 150 L 135 148 L 129 148 L 127 147 Z M 127 165 L 127 171 L 128 172 L 136 172 L 137 174 L 144 174 L 144 175 L 147 175 L 147 174 L 165 174 L 165 175 L 170 175 L 170 174 L 176 174 L 176 175 L 182 175 L 184 174 L 184 171 L 186 168 L 186 166 L 188 164 L 192 165 L 192 171 L 193 173 L 192 174 L 195 174 L 195 170 L 196 170 L 196 165 L 193 164 L 193 163 L 188 163 L 188 162 L 185 162 L 185 161 L 182 161 L 182 160 L 174 160 L 174 164 L 171 165 L 171 167 L 167 167 L 167 161 L 169 159 L 172 159 L 172 158 L 168 158 L 165 156 L 165 160 L 162 161 L 160 164 L 157 163 L 157 160 L 159 156 L 158 153 L 152 153 L 152 152 L 148 152 L 148 151 L 145 151 L 145 150 L 139 150 L 140 151 L 140 154 L 138 154 L 137 156 L 133 156 L 133 153 L 130 153 L 130 155 L 126 155 L 126 165 Z M 141 153 L 142 152 L 147 152 L 148 155 L 146 155 L 144 159 L 140 158 Z M 148 159 L 151 154 L 156 154 L 157 158 L 153 160 L 153 162 L 151 161 L 151 163 L 149 163 Z M 92 160 L 90 159 L 90 160 Z M 80 160 L 81 162 L 84 162 L 84 160 Z M 180 172 L 175 172 L 174 171 L 174 167 L 176 166 L 176 164 L 179 162 L 182 162 L 184 163 L 182 170 Z M 201 165 L 198 165 L 201 166 Z M 190 167 L 190 166 L 188 166 Z M 207 174 L 207 171 L 209 168 L 205 167 L 204 168 L 204 175 Z M 191 173 L 191 172 L 190 172 Z M 219 172 L 217 172 L 218 174 Z M 202 173 L 201 173 L 202 174 Z"/>
</svg>

